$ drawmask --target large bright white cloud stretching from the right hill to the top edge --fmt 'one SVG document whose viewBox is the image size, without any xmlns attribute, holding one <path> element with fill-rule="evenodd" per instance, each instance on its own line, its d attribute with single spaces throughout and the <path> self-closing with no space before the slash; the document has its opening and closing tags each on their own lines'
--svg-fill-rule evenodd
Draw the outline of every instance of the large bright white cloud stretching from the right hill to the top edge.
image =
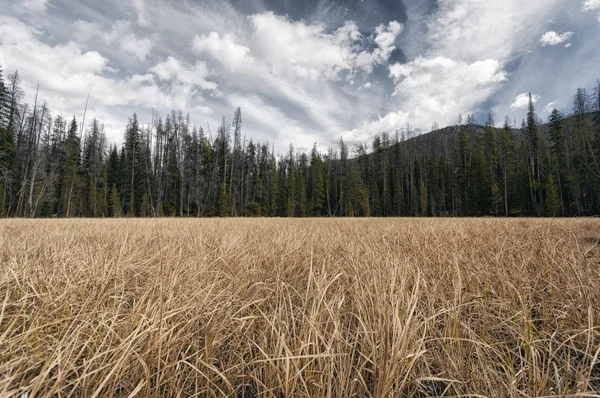
<svg viewBox="0 0 600 398">
<path fill-rule="evenodd" d="M 552 1 L 438 0 L 420 32 L 425 51 L 389 67 L 395 88 L 388 115 L 347 134 L 368 136 L 406 123 L 427 131 L 434 121 L 455 123 L 459 113 L 487 112 L 479 106 L 508 81 L 503 65 L 535 43 L 538 26 L 531 21 L 545 18 Z"/>
</svg>

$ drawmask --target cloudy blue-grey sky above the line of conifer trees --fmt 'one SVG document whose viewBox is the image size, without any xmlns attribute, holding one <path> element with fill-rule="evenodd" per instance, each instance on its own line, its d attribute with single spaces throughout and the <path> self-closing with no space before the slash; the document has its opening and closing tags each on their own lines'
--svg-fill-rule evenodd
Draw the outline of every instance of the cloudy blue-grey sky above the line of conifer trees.
<svg viewBox="0 0 600 398">
<path fill-rule="evenodd" d="M 215 132 L 325 150 L 458 115 L 570 112 L 600 78 L 600 0 L 12 0 L 0 65 L 26 100 L 104 123 L 189 113 Z"/>
</svg>

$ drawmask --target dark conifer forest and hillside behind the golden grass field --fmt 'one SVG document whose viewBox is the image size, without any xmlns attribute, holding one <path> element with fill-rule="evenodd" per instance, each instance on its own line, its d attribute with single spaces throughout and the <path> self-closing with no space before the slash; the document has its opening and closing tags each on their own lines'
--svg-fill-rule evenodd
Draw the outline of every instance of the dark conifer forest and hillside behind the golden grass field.
<svg viewBox="0 0 600 398">
<path fill-rule="evenodd" d="M 530 100 L 518 128 L 468 117 L 285 155 L 245 136 L 239 108 L 215 137 L 181 111 L 134 114 L 111 146 L 100 120 L 82 126 L 38 97 L 23 103 L 18 73 L 0 69 L 2 217 L 600 214 L 600 82 L 548 121 Z"/>
</svg>

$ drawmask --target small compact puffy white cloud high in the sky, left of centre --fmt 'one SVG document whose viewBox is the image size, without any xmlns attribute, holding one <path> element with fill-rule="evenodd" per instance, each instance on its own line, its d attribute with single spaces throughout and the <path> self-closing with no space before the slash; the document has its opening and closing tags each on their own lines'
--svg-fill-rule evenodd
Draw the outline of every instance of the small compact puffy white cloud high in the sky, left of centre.
<svg viewBox="0 0 600 398">
<path fill-rule="evenodd" d="M 250 49 L 238 44 L 237 38 L 231 33 L 221 36 L 218 32 L 210 32 L 208 35 L 196 36 L 192 47 L 198 54 L 210 55 L 231 72 L 254 61 L 249 54 Z"/>
</svg>

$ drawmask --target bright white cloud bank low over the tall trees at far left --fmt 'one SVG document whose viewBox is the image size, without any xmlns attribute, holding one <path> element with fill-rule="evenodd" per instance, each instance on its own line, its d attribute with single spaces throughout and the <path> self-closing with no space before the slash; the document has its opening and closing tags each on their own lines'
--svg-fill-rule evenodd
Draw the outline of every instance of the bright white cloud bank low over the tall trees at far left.
<svg viewBox="0 0 600 398">
<path fill-rule="evenodd" d="M 97 51 L 85 51 L 73 42 L 52 46 L 42 42 L 41 35 L 14 18 L 0 17 L 0 63 L 7 71 L 18 69 L 25 100 L 32 102 L 39 81 L 41 100 L 48 102 L 54 115 L 68 117 L 81 115 L 90 92 L 88 114 L 103 118 L 113 141 L 122 136 L 123 107 L 193 109 L 203 101 L 197 87 L 216 88 L 206 80 L 204 63 L 188 66 L 175 59 L 156 65 L 151 73 L 110 78 L 105 75 L 111 70 L 109 60 Z M 209 113 L 209 108 L 203 109 Z"/>
</svg>

